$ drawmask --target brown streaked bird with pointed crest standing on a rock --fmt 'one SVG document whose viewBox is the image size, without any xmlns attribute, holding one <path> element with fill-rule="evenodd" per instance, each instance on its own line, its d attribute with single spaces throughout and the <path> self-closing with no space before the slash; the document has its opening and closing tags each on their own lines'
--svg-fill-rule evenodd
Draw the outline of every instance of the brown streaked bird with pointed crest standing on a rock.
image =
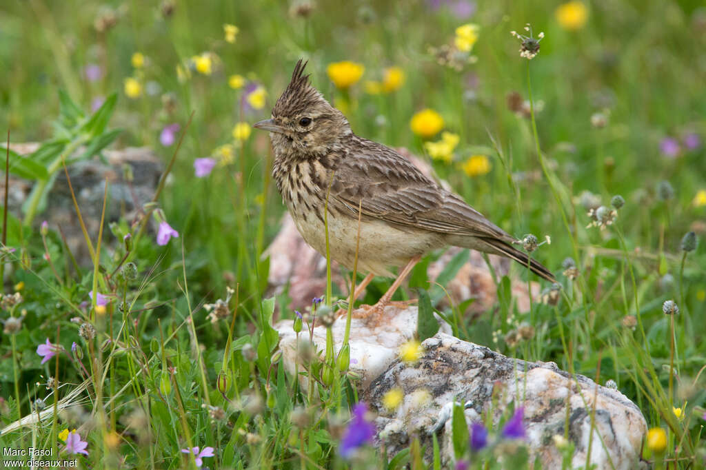
<svg viewBox="0 0 706 470">
<path fill-rule="evenodd" d="M 371 311 L 381 313 L 412 267 L 430 251 L 460 246 L 511 258 L 539 277 L 551 271 L 514 244 L 521 243 L 465 200 L 425 176 L 390 147 L 353 133 L 340 110 L 311 85 L 299 59 L 270 119 L 273 179 L 306 243 L 366 277 L 398 275 Z M 357 264 L 356 264 L 357 263 Z M 364 315 L 366 316 L 366 315 Z"/>
</svg>

